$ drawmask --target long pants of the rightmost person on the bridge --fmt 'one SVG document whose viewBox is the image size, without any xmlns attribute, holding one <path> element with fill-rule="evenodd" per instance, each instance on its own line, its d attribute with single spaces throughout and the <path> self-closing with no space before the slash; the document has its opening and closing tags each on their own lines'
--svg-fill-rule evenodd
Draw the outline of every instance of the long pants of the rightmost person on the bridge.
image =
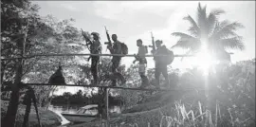
<svg viewBox="0 0 256 127">
<path fill-rule="evenodd" d="M 167 64 L 155 64 L 155 85 L 157 87 L 160 86 L 160 75 L 163 75 L 165 79 L 165 83 L 169 84 L 168 72 L 167 72 Z"/>
</svg>

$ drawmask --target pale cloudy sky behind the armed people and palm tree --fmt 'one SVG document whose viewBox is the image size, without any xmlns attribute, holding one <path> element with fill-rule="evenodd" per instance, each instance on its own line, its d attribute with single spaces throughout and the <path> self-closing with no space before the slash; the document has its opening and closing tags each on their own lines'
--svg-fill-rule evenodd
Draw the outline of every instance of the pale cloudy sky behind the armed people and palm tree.
<svg viewBox="0 0 256 127">
<path fill-rule="evenodd" d="M 183 17 L 190 14 L 196 18 L 199 1 L 33 1 L 41 9 L 39 14 L 51 14 L 62 20 L 73 18 L 75 27 L 85 31 L 97 31 L 101 35 L 101 43 L 106 42 L 104 26 L 109 34 L 117 34 L 119 41 L 129 48 L 129 54 L 137 53 L 137 39 L 142 39 L 143 45 L 151 45 L 152 31 L 155 40 L 163 40 L 163 44 L 171 47 L 178 40 L 172 32 L 187 32 L 190 27 Z M 244 28 L 237 30 L 243 36 L 246 49 L 232 50 L 231 62 L 255 58 L 255 1 L 202 1 L 207 6 L 207 12 L 212 9 L 224 9 L 225 14 L 220 20 L 228 19 L 239 22 Z M 103 45 L 103 51 L 105 51 Z M 182 49 L 173 49 L 174 54 L 183 54 Z M 85 51 L 86 52 L 86 51 Z M 108 51 L 103 53 L 109 53 Z M 122 63 L 130 65 L 134 58 L 124 58 Z M 172 66 L 184 69 L 191 67 L 193 58 L 180 61 L 175 58 Z M 148 58 L 148 67 L 154 67 L 153 58 Z"/>
</svg>

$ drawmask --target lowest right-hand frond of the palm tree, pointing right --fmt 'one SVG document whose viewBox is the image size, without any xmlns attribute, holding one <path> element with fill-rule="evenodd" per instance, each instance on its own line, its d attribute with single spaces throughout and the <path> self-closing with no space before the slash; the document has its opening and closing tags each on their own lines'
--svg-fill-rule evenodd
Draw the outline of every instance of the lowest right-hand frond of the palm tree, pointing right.
<svg viewBox="0 0 256 127">
<path fill-rule="evenodd" d="M 228 39 L 222 39 L 219 41 L 220 45 L 223 45 L 226 48 L 240 49 L 244 50 L 245 45 L 242 42 L 242 37 L 233 37 Z"/>
</svg>

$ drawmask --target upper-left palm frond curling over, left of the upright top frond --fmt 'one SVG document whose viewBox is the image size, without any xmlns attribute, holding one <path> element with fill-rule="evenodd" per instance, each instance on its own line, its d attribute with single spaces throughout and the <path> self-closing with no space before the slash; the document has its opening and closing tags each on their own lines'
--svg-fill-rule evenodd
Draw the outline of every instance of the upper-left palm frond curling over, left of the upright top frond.
<svg viewBox="0 0 256 127">
<path fill-rule="evenodd" d="M 192 19 L 191 15 L 188 15 L 187 17 L 183 18 L 184 20 L 187 20 L 191 23 L 191 27 L 189 28 L 189 31 L 192 33 L 193 36 L 198 36 L 200 34 L 200 28 L 197 26 L 195 21 Z"/>
</svg>

